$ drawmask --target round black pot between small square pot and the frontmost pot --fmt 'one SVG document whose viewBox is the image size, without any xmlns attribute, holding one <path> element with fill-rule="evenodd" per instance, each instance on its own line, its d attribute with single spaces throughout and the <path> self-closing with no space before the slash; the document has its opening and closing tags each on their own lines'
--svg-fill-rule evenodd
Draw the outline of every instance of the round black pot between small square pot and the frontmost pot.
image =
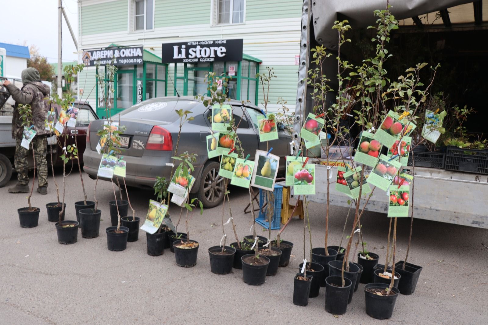
<svg viewBox="0 0 488 325">
<path fill-rule="evenodd" d="M 325 310 L 334 315 L 346 313 L 351 291 L 351 280 L 344 277 L 345 286 L 342 286 L 342 277 L 329 275 L 325 278 Z"/>
</svg>

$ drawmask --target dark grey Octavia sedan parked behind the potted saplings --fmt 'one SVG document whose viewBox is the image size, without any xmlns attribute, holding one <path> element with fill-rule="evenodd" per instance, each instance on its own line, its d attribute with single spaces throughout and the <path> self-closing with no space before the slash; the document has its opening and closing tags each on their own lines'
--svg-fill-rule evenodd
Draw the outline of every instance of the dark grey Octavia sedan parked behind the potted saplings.
<svg viewBox="0 0 488 325">
<path fill-rule="evenodd" d="M 254 105 L 243 105 L 238 101 L 231 101 L 232 114 L 236 125 L 239 125 L 237 134 L 242 142 L 245 153 L 253 160 L 256 149 L 266 150 L 266 142 L 259 142 L 257 118 L 263 113 Z M 185 151 L 198 155 L 194 164 L 196 178 L 191 193 L 197 195 L 205 207 L 218 205 L 224 199 L 224 182 L 218 177 L 219 158 L 208 159 L 206 137 L 210 134 L 211 109 L 207 109 L 202 102 L 193 97 L 162 97 L 150 99 L 130 108 L 113 117 L 125 127 L 122 135 L 123 157 L 127 162 L 126 183 L 137 187 L 152 187 L 156 176 L 170 179 L 172 156 L 178 139 L 179 116 L 177 109 L 189 110 L 194 117 L 193 121 L 183 124 L 178 154 Z M 104 120 L 90 123 L 86 150 L 83 154 L 83 170 L 91 177 L 96 178 L 101 154 L 96 146 L 100 140 L 97 131 L 102 129 Z M 279 171 L 285 171 L 285 156 L 289 152 L 291 138 L 278 125 L 279 139 L 270 141 L 273 154 L 282 157 Z"/>
</svg>

